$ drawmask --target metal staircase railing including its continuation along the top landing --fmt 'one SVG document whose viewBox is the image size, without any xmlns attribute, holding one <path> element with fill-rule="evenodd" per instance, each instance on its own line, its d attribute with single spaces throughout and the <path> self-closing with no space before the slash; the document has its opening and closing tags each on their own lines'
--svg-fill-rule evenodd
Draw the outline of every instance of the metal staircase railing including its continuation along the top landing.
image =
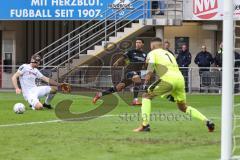
<svg viewBox="0 0 240 160">
<path fill-rule="evenodd" d="M 151 12 L 155 12 L 158 9 L 149 7 L 154 1 L 166 3 L 166 6 L 162 9 L 166 13 L 165 18 L 168 19 L 171 12 L 173 12 L 173 18 L 175 19 L 178 13 L 182 15 L 181 6 L 183 6 L 183 1 L 181 0 L 132 0 L 130 4 L 134 5 L 134 8 L 131 10 L 118 8 L 112 11 L 112 8 L 107 8 L 99 15 L 104 17 L 103 20 L 96 20 L 96 17 L 89 20 L 36 54 L 43 57 L 42 64 L 44 66 L 64 66 L 68 63 L 68 67 L 70 67 L 71 61 L 78 59 L 80 54 L 86 54 L 95 45 L 106 44 L 109 37 L 116 37 L 118 32 L 121 32 L 133 22 L 140 19 L 143 19 L 143 22 L 145 22 L 147 18 L 154 16 Z M 169 8 L 170 5 L 173 5 L 173 7 Z M 180 5 L 180 9 L 177 5 Z M 122 12 L 126 12 L 126 14 L 119 16 Z"/>
</svg>

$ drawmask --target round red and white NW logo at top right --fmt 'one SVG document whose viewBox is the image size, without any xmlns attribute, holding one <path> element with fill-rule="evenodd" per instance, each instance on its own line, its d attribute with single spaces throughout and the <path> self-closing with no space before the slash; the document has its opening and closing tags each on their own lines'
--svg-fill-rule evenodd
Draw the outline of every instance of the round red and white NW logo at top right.
<svg viewBox="0 0 240 160">
<path fill-rule="evenodd" d="M 201 19 L 211 19 L 218 13 L 218 0 L 193 0 L 193 14 Z"/>
</svg>

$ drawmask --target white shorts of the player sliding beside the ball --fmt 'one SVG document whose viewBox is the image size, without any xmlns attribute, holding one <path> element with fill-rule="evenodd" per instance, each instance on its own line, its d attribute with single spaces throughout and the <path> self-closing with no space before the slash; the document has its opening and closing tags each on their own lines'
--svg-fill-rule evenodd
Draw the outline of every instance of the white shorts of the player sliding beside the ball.
<svg viewBox="0 0 240 160">
<path fill-rule="evenodd" d="M 39 98 L 47 96 L 51 91 L 50 86 L 39 86 L 31 88 L 28 94 L 24 95 L 25 100 L 35 109 L 36 104 L 39 102 Z"/>
</svg>

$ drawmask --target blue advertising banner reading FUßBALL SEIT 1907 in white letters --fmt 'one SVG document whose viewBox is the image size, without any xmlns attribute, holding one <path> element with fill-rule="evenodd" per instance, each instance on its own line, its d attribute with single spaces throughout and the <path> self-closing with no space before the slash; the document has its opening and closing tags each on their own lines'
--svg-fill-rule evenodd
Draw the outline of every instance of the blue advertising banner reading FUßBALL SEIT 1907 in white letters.
<svg viewBox="0 0 240 160">
<path fill-rule="evenodd" d="M 0 20 L 89 20 L 104 19 L 116 10 L 118 16 L 135 19 L 143 13 L 144 0 L 0 0 Z M 109 9 L 107 13 L 105 11 Z M 114 19 L 112 17 L 111 19 Z"/>
</svg>

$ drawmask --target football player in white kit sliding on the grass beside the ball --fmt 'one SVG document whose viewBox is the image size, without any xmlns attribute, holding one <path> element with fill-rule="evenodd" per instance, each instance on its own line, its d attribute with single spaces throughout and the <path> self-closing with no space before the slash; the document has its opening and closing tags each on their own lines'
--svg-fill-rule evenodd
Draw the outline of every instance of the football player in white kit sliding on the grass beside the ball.
<svg viewBox="0 0 240 160">
<path fill-rule="evenodd" d="M 15 87 L 16 94 L 23 93 L 24 99 L 30 104 L 33 110 L 41 110 L 44 107 L 52 109 L 50 102 L 57 93 L 59 83 L 45 77 L 37 69 L 40 64 L 41 57 L 33 55 L 30 64 L 23 64 L 18 71 L 12 76 L 12 83 Z M 18 87 L 17 78 L 19 78 L 21 89 Z M 37 86 L 35 80 L 41 79 L 47 82 L 48 86 Z M 52 85 L 52 86 L 50 86 Z M 45 103 L 42 104 L 39 98 L 46 96 Z"/>
</svg>

